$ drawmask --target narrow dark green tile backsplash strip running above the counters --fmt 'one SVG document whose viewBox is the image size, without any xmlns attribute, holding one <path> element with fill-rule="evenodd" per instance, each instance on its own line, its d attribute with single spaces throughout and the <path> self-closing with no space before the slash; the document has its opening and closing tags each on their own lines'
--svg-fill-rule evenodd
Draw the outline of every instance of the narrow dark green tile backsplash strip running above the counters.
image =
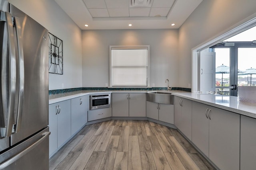
<svg viewBox="0 0 256 170">
<path fill-rule="evenodd" d="M 80 88 L 66 88 L 58 90 L 49 90 L 49 95 L 74 92 L 78 90 L 167 90 L 167 87 L 152 87 L 152 88 L 107 88 L 107 87 L 80 87 Z M 172 90 L 182 90 L 186 92 L 191 92 L 191 88 L 180 88 L 173 87 Z"/>
</svg>

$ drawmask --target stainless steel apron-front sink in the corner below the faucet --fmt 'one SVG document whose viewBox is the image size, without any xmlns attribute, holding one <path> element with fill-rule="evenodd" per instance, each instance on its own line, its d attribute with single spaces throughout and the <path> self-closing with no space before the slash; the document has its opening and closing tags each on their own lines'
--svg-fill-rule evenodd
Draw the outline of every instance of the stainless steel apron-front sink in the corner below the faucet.
<svg viewBox="0 0 256 170">
<path fill-rule="evenodd" d="M 173 104 L 173 96 L 168 92 L 147 93 L 147 101 L 161 104 Z"/>
</svg>

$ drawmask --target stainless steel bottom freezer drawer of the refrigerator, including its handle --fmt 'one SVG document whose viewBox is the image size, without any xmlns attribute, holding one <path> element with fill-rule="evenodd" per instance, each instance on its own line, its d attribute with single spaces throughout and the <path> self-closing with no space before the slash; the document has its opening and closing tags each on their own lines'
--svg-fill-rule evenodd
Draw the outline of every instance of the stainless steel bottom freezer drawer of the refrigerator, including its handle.
<svg viewBox="0 0 256 170">
<path fill-rule="evenodd" d="M 0 170 L 48 170 L 49 128 L 0 154 Z"/>
</svg>

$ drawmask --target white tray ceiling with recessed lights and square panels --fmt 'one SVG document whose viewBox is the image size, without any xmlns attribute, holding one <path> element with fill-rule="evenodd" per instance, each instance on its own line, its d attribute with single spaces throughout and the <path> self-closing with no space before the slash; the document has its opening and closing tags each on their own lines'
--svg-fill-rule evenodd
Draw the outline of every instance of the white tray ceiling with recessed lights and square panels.
<svg viewBox="0 0 256 170">
<path fill-rule="evenodd" d="M 81 29 L 179 28 L 202 2 L 202 0 L 55 1 Z M 145 5 L 140 6 L 142 3 Z M 132 24 L 131 27 L 128 26 L 129 23 Z M 171 23 L 175 25 L 171 26 Z M 84 24 L 88 24 L 89 27 L 85 27 Z"/>
</svg>

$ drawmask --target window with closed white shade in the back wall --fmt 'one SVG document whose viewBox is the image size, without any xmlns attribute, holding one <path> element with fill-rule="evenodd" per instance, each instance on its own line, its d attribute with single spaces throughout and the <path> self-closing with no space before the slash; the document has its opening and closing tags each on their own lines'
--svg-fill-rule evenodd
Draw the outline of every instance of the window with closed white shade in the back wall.
<svg viewBox="0 0 256 170">
<path fill-rule="evenodd" d="M 110 86 L 149 86 L 149 45 L 110 46 Z"/>
</svg>

